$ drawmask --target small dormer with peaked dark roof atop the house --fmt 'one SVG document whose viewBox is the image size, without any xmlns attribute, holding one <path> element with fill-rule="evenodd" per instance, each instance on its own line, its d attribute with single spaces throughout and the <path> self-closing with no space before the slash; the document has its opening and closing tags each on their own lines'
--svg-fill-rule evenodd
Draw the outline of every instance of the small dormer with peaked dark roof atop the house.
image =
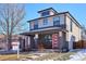
<svg viewBox="0 0 86 64">
<path fill-rule="evenodd" d="M 38 11 L 38 13 L 40 14 L 40 16 L 49 16 L 49 15 L 58 14 L 58 12 L 52 8 Z"/>
</svg>

